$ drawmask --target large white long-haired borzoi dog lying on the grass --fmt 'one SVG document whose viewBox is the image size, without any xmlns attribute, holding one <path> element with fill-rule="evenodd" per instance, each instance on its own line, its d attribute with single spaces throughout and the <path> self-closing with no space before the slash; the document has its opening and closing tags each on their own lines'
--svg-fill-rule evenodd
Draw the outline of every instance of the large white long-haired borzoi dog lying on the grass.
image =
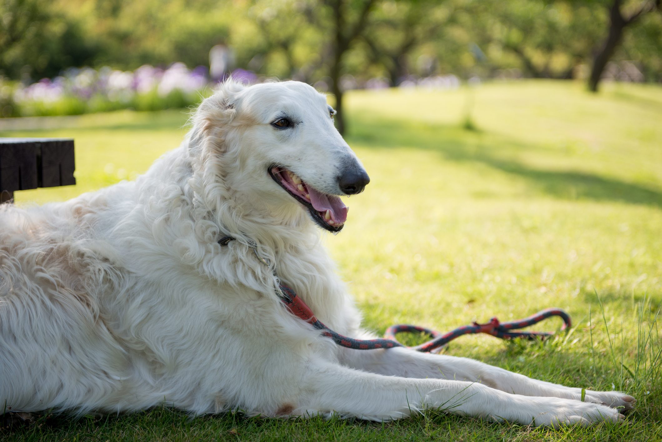
<svg viewBox="0 0 662 442">
<path fill-rule="evenodd" d="M 179 148 L 134 182 L 0 209 L 0 404 L 7 411 L 339 414 L 424 408 L 558 425 L 617 421 L 634 398 L 476 360 L 337 347 L 291 314 L 372 337 L 318 241 L 369 178 L 324 95 L 226 82 Z M 235 241 L 221 247 L 226 235 Z M 255 247 L 255 249 L 254 249 Z M 265 265 L 271 264 L 272 268 Z"/>
</svg>

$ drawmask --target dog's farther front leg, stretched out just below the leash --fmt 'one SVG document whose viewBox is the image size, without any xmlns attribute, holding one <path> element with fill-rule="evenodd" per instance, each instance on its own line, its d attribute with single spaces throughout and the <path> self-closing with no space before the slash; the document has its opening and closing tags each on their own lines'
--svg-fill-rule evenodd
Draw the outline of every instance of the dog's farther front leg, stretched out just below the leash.
<svg viewBox="0 0 662 442">
<path fill-rule="evenodd" d="M 390 376 L 439 378 L 480 382 L 496 390 L 524 396 L 547 396 L 581 400 L 582 389 L 552 384 L 510 372 L 477 360 L 446 355 L 432 355 L 395 348 L 389 350 L 345 350 L 343 362 L 348 366 Z M 631 410 L 636 402 L 622 392 L 585 391 L 585 401 L 604 404 L 620 410 Z"/>
</svg>

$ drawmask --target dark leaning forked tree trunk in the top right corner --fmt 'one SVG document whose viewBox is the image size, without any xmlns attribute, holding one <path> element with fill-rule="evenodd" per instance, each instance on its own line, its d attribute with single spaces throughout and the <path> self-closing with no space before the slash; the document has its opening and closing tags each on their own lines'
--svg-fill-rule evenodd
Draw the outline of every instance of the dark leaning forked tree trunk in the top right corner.
<svg viewBox="0 0 662 442">
<path fill-rule="evenodd" d="M 645 0 L 643 3 L 639 3 L 634 12 L 629 14 L 624 14 L 622 8 L 622 0 L 612 0 L 609 7 L 609 30 L 607 37 L 596 51 L 593 58 L 591 76 L 589 76 L 589 90 L 592 92 L 598 91 L 598 83 L 602 78 L 602 72 L 604 72 L 605 66 L 607 66 L 616 48 L 622 42 L 624 29 L 641 19 L 643 15 L 656 10 L 659 11 L 660 0 Z"/>
</svg>

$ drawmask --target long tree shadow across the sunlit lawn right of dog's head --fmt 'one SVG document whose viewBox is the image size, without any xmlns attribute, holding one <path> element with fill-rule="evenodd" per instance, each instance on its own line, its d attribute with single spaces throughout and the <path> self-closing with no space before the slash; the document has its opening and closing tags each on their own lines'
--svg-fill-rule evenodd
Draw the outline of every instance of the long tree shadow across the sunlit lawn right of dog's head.
<svg viewBox="0 0 662 442">
<path fill-rule="evenodd" d="M 503 135 L 475 133 L 458 127 L 356 118 L 350 144 L 368 148 L 416 148 L 439 152 L 446 160 L 476 162 L 518 176 L 540 192 L 560 199 L 592 199 L 662 207 L 662 193 L 639 184 L 575 170 L 534 168 L 516 157 L 524 152 L 557 152 L 537 144 L 523 144 Z"/>
</svg>

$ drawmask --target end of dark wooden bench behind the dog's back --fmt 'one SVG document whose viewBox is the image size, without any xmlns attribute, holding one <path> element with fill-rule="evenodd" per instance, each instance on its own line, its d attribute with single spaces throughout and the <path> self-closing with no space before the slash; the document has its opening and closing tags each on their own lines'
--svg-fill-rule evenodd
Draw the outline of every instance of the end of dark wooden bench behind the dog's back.
<svg viewBox="0 0 662 442">
<path fill-rule="evenodd" d="M 14 192 L 76 184 L 73 139 L 0 138 L 0 203 Z"/>
</svg>

